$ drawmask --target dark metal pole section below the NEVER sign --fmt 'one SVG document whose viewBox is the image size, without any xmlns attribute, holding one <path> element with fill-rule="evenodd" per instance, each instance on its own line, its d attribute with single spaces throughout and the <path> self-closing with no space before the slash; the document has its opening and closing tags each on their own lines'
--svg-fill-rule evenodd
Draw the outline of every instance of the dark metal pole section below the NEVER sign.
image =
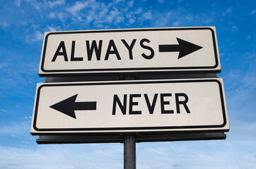
<svg viewBox="0 0 256 169">
<path fill-rule="evenodd" d="M 124 135 L 124 169 L 136 169 L 135 135 Z"/>
</svg>

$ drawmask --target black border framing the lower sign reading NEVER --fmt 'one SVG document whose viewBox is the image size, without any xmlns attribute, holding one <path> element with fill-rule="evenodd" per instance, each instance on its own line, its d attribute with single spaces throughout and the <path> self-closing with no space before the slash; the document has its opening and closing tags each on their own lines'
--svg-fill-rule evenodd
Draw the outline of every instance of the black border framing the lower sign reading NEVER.
<svg viewBox="0 0 256 169">
<path fill-rule="evenodd" d="M 221 125 L 192 125 L 192 126 L 178 126 L 178 127 L 170 127 L 170 126 L 165 126 L 165 127 L 104 127 L 104 128 L 65 128 L 65 129 L 60 129 L 60 128 L 37 128 L 36 127 L 36 121 L 37 121 L 37 110 L 38 110 L 38 104 L 39 104 L 39 99 L 40 99 L 40 90 L 42 87 L 57 87 L 57 86 L 87 86 L 87 85 L 110 85 L 110 84 L 161 84 L 161 83 L 184 83 L 184 82 L 217 82 L 219 84 L 219 92 L 221 96 L 221 107 L 222 107 L 222 112 L 223 112 L 223 124 Z M 36 95 L 36 102 L 35 102 L 35 115 L 34 115 L 34 120 L 33 120 L 33 128 L 37 132 L 41 132 L 41 134 L 45 134 L 44 132 L 51 132 L 51 134 L 54 134 L 54 132 L 90 132 L 93 133 L 93 131 L 104 131 L 104 130 L 112 130 L 112 131 L 117 131 L 117 130 L 122 130 L 122 132 L 125 132 L 125 130 L 151 130 L 151 132 L 154 132 L 153 130 L 172 130 L 172 129 L 204 129 L 204 128 L 221 128 L 224 127 L 227 123 L 226 120 L 226 109 L 225 109 L 225 103 L 223 99 L 223 90 L 222 90 L 222 85 L 219 80 L 216 79 L 207 79 L 207 80 L 165 80 L 165 81 L 140 81 L 140 82 L 89 82 L 89 83 L 65 83 L 65 84 L 42 84 L 40 87 L 37 89 L 37 95 Z M 58 132 L 59 131 L 59 132 Z M 94 133 L 97 133 L 94 132 Z M 136 132 L 136 131 L 134 131 Z M 105 132 L 106 133 L 106 132 Z M 35 134 L 35 133 L 32 133 Z M 40 133 L 36 133 L 40 134 Z"/>
</svg>

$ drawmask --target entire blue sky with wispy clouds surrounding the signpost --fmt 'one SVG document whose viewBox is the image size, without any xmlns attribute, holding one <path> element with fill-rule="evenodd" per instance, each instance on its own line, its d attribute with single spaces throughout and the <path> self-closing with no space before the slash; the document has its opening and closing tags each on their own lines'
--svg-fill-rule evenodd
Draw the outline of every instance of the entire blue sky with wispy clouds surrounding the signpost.
<svg viewBox="0 0 256 169">
<path fill-rule="evenodd" d="M 216 26 L 231 130 L 136 144 L 137 168 L 256 168 L 255 25 L 255 0 L 0 0 L 0 168 L 123 166 L 123 144 L 37 145 L 30 135 L 44 32 L 192 26 Z"/>
</svg>

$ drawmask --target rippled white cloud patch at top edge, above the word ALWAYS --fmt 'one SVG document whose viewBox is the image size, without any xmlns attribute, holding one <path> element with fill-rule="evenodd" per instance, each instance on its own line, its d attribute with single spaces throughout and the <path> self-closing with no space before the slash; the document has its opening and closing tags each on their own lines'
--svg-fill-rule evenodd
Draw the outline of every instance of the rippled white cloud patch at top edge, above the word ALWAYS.
<svg viewBox="0 0 256 169">
<path fill-rule="evenodd" d="M 127 1 L 124 5 L 122 1 L 114 1 L 108 4 L 93 0 L 77 1 L 72 6 L 68 6 L 66 11 L 71 13 L 73 23 L 83 23 L 83 27 L 84 25 L 89 27 L 92 23 L 95 27 L 107 28 L 111 25 L 120 25 L 120 23 L 128 25 L 136 23 L 137 20 L 144 21 L 153 18 L 151 11 L 142 13 L 143 9 L 141 7 L 134 8 L 134 2 L 134 0 Z M 54 19 L 58 16 L 56 12 L 52 12 L 48 17 Z"/>
</svg>

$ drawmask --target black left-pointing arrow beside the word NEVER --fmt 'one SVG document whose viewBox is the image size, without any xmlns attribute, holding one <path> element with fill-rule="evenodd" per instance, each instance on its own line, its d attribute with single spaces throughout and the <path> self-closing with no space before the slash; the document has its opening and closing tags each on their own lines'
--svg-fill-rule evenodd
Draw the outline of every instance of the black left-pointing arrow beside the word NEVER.
<svg viewBox="0 0 256 169">
<path fill-rule="evenodd" d="M 76 118 L 75 111 L 90 111 L 96 110 L 96 101 L 76 102 L 76 96 L 78 94 L 69 97 L 57 104 L 50 106 L 50 108 L 60 111 L 72 118 Z"/>
</svg>

